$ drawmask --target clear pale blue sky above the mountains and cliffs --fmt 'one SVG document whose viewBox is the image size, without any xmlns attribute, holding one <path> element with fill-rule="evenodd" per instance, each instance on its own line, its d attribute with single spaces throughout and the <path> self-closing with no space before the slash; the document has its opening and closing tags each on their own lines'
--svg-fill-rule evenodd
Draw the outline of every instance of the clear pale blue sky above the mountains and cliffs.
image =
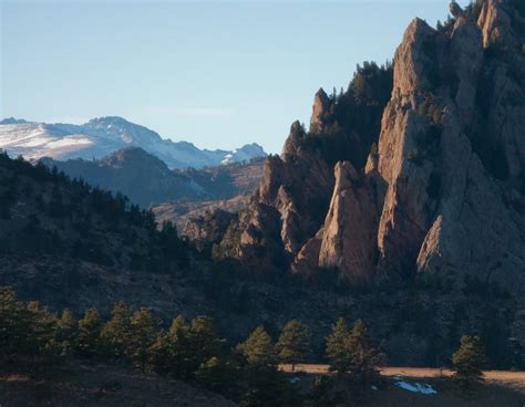
<svg viewBox="0 0 525 407">
<path fill-rule="evenodd" d="M 312 96 L 391 59 L 449 0 L 0 0 L 0 116 L 123 116 L 174 140 L 278 153 Z M 467 1 L 461 1 L 465 4 Z"/>
</svg>

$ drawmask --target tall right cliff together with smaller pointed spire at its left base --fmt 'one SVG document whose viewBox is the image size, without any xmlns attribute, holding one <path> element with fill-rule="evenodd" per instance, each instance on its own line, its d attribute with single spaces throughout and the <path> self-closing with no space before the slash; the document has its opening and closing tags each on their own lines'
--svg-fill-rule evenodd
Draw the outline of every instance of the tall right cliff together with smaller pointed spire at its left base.
<svg viewBox="0 0 525 407">
<path fill-rule="evenodd" d="M 455 6 L 440 31 L 419 19 L 408 28 L 378 149 L 366 175 L 336 166 L 326 222 L 294 271 L 336 268 L 353 282 L 378 269 L 524 280 L 524 95 L 512 75 L 524 66 L 512 48 L 523 41 L 521 17 L 509 1 L 486 1 L 476 24 L 473 9 Z"/>
</svg>

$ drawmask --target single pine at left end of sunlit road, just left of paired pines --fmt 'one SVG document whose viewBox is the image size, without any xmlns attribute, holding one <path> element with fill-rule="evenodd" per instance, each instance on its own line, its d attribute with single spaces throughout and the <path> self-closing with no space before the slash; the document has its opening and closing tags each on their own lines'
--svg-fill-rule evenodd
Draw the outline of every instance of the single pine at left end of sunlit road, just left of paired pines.
<svg viewBox="0 0 525 407">
<path fill-rule="evenodd" d="M 279 361 L 291 363 L 295 371 L 296 363 L 302 362 L 310 351 L 310 335 L 308 328 L 297 320 L 289 321 L 277 341 Z"/>
</svg>

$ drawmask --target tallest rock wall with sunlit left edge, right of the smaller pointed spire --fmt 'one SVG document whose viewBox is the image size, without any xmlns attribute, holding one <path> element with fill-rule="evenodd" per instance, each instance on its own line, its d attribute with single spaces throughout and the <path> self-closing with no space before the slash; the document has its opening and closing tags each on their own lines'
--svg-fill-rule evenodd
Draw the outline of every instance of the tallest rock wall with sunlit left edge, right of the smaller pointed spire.
<svg viewBox="0 0 525 407">
<path fill-rule="evenodd" d="M 473 148 L 473 143 L 490 143 L 480 125 L 485 117 L 476 94 L 484 85 L 482 72 L 498 64 L 490 54 L 484 56 L 483 38 L 486 32 L 482 36 L 482 30 L 463 17 L 443 32 L 418 20 L 408 29 L 397 53 L 394 92 L 379 144 L 379 173 L 388 191 L 378 244 L 384 269 L 442 276 L 471 274 L 516 290 L 522 284 L 517 282 L 524 281 L 525 265 L 524 217 L 515 210 L 521 198 L 509 192 L 512 182 L 506 184 L 505 177 L 497 180 L 488 174 L 490 165 L 483 163 L 487 157 L 480 157 Z M 433 79 L 431 61 L 451 66 L 451 72 Z M 444 81 L 446 77 L 454 81 Z M 516 85 L 507 77 L 503 88 L 505 82 Z M 517 100 L 517 112 L 523 101 L 523 96 Z M 493 126 L 488 139 L 497 137 L 494 145 L 501 145 L 507 134 L 519 140 L 513 147 L 523 143 L 525 116 L 516 117 L 514 107 L 501 108 L 497 97 L 485 102 L 491 106 L 488 123 L 501 121 L 508 128 Z M 439 140 L 429 139 L 431 135 Z M 435 148 L 429 148 L 430 143 Z M 503 143 L 504 150 L 506 145 Z M 492 152 L 490 158 L 495 156 Z M 515 163 L 514 173 L 521 173 L 519 159 Z M 517 199 L 515 205 L 509 195 Z"/>
</svg>

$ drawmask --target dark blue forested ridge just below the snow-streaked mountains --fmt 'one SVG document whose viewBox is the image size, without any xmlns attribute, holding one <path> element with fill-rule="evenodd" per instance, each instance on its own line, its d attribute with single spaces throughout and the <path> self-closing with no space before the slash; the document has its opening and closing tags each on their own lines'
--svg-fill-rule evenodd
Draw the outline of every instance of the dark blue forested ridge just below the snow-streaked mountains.
<svg viewBox="0 0 525 407">
<path fill-rule="evenodd" d="M 169 169 L 156 156 L 140 147 L 121 148 L 95 160 L 66 161 L 44 157 L 48 167 L 56 167 L 72 178 L 113 192 L 126 195 L 143 208 L 174 201 L 230 199 L 251 194 L 262 174 L 262 159 L 246 164 L 226 164 L 200 169 Z"/>
</svg>

